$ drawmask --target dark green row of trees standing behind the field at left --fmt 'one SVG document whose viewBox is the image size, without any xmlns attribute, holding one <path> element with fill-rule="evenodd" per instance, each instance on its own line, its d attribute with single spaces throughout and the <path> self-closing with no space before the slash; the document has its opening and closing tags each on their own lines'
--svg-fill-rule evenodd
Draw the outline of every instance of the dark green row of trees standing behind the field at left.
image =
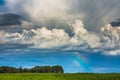
<svg viewBox="0 0 120 80">
<path fill-rule="evenodd" d="M 34 66 L 33 68 L 16 68 L 0 66 L 0 73 L 64 73 L 62 66 Z"/>
</svg>

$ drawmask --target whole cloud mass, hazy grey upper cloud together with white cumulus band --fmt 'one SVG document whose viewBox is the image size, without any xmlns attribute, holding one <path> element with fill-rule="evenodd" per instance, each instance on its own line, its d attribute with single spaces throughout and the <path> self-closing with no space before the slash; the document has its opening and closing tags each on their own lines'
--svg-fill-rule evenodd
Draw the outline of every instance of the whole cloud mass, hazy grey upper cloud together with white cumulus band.
<svg viewBox="0 0 120 80">
<path fill-rule="evenodd" d="M 28 48 L 88 49 L 117 55 L 120 51 L 120 26 L 119 22 L 112 21 L 120 17 L 119 2 L 5 0 L 10 12 L 31 22 L 21 21 L 22 32 L 1 30 L 0 41 L 32 44 Z"/>
</svg>

